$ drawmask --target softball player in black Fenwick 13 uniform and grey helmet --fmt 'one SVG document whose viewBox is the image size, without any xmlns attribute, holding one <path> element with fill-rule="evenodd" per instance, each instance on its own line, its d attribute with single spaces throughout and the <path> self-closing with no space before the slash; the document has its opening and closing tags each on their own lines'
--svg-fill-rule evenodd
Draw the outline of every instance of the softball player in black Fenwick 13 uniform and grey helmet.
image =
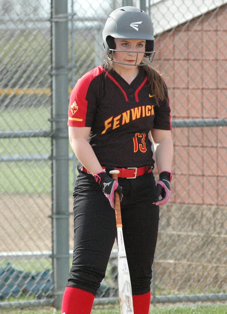
<svg viewBox="0 0 227 314">
<path fill-rule="evenodd" d="M 62 313 L 91 313 L 116 237 L 118 191 L 134 313 L 147 314 L 159 205 L 171 194 L 169 97 L 160 74 L 149 65 L 155 52 L 148 14 L 135 7 L 118 8 L 102 34 L 106 62 L 77 81 L 69 101 L 69 141 L 79 175 L 73 194 L 74 257 Z M 115 168 L 119 183 L 109 174 Z"/>
</svg>

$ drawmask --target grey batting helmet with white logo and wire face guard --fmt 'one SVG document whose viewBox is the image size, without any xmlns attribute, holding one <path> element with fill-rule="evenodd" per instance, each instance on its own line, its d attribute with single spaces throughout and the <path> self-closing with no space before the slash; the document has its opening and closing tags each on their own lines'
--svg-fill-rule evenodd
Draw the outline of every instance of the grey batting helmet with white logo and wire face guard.
<svg viewBox="0 0 227 314">
<path fill-rule="evenodd" d="M 151 18 L 146 12 L 138 8 L 128 6 L 116 9 L 109 15 L 102 32 L 103 48 L 108 59 L 116 62 L 113 60 L 113 53 L 116 51 L 114 38 L 146 40 L 143 62 L 141 64 L 137 64 L 137 62 L 135 62 L 133 66 L 147 65 L 152 62 L 155 55 L 153 25 Z M 136 52 L 136 61 L 138 53 L 141 53 L 139 51 L 127 52 Z"/>
</svg>

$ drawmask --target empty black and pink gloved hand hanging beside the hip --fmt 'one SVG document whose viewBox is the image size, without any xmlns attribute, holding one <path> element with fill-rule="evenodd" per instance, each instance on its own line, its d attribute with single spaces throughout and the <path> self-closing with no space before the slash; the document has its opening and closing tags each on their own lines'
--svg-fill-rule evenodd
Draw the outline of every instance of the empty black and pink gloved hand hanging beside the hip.
<svg viewBox="0 0 227 314">
<path fill-rule="evenodd" d="M 156 200 L 152 203 L 155 205 L 165 205 L 171 196 L 170 182 L 172 172 L 163 171 L 159 174 L 159 181 L 156 188 Z"/>
</svg>

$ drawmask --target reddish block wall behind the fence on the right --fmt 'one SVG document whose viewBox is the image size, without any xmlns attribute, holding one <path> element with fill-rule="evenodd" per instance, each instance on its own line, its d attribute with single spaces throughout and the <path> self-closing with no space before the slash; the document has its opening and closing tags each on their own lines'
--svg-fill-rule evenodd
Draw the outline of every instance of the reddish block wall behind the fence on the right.
<svg viewBox="0 0 227 314">
<path fill-rule="evenodd" d="M 172 119 L 227 118 L 227 5 L 155 41 Z M 172 202 L 227 203 L 227 127 L 173 128 Z"/>
</svg>

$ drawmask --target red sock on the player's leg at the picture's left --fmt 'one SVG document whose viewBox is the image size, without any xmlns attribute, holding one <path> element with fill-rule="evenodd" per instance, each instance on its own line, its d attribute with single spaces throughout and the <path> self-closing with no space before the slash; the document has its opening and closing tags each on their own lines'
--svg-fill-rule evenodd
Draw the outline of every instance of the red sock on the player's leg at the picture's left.
<svg viewBox="0 0 227 314">
<path fill-rule="evenodd" d="M 66 287 L 62 300 L 63 314 L 90 314 L 95 296 L 85 290 Z"/>
</svg>

